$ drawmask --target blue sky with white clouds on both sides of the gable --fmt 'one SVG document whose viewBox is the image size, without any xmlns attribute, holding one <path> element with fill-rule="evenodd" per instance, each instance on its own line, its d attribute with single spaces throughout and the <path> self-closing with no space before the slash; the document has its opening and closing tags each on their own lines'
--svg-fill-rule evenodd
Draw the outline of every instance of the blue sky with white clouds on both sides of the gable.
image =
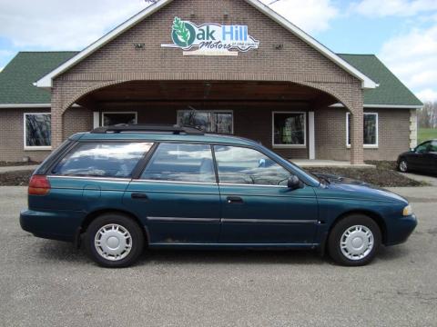
<svg viewBox="0 0 437 327">
<path fill-rule="evenodd" d="M 145 6 L 0 0 L 0 69 L 18 51 L 80 50 Z M 422 100 L 437 101 L 437 0 L 279 0 L 271 7 L 334 52 L 377 54 Z"/>
</svg>

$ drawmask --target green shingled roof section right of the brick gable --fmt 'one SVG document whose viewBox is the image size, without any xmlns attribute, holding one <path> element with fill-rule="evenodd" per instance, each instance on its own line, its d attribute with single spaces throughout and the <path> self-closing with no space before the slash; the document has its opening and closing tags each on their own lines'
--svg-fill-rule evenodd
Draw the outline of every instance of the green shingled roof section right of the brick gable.
<svg viewBox="0 0 437 327">
<path fill-rule="evenodd" d="M 374 54 L 339 54 L 341 58 L 366 74 L 376 89 L 364 90 L 364 104 L 422 105 L 407 86 L 401 83 L 385 64 Z"/>
</svg>

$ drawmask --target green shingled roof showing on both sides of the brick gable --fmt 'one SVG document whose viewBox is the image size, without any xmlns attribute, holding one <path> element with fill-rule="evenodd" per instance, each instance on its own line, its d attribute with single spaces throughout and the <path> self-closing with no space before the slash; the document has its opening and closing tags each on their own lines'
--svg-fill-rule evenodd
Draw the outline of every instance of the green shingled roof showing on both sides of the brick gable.
<svg viewBox="0 0 437 327">
<path fill-rule="evenodd" d="M 0 73 L 0 104 L 49 104 L 48 91 L 33 85 L 77 52 L 21 52 Z M 364 91 L 364 104 L 422 105 L 373 54 L 339 54 L 380 87 Z"/>
</svg>

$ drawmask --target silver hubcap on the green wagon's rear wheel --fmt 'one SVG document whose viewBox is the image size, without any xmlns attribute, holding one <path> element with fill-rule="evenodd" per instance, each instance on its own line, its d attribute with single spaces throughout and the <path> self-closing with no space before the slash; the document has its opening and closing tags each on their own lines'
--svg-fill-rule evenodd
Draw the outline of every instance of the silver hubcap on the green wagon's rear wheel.
<svg viewBox="0 0 437 327">
<path fill-rule="evenodd" d="M 94 246 L 103 258 L 110 261 L 122 260 L 132 250 L 132 236 L 117 223 L 107 224 L 96 233 Z"/>
</svg>

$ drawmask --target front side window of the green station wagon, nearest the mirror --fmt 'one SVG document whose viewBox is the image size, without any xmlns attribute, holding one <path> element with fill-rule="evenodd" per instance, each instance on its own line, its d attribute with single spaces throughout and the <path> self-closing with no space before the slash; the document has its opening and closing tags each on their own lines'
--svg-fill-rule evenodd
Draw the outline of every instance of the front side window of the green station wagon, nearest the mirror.
<svg viewBox="0 0 437 327">
<path fill-rule="evenodd" d="M 214 151 L 220 183 L 287 185 L 290 172 L 256 150 L 215 145 Z"/>
</svg>

